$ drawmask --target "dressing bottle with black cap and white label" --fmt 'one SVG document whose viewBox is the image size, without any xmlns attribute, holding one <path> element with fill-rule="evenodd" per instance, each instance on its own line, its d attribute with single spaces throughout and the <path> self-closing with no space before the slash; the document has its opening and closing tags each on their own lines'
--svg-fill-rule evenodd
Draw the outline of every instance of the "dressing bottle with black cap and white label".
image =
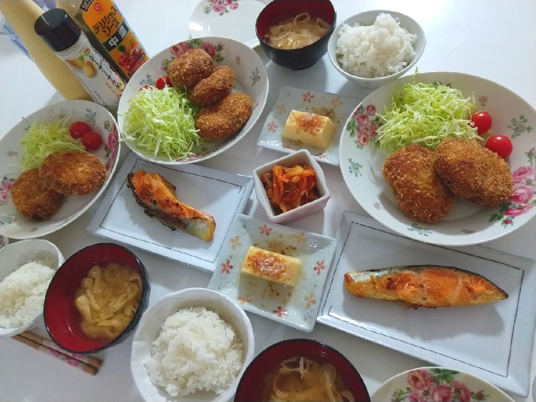
<svg viewBox="0 0 536 402">
<path fill-rule="evenodd" d="M 123 78 L 91 46 L 65 10 L 45 11 L 35 21 L 34 30 L 69 65 L 96 103 L 110 111 L 117 110 L 125 88 Z"/>
</svg>

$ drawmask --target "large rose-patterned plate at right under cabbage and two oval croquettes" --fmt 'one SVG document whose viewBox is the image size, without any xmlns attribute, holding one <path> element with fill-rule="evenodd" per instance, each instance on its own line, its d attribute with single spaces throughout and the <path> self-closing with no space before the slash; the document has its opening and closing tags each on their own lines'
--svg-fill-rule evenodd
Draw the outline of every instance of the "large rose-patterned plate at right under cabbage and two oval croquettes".
<svg viewBox="0 0 536 402">
<path fill-rule="evenodd" d="M 402 212 L 382 175 L 386 155 L 373 147 L 381 124 L 378 113 L 391 102 L 396 87 L 411 80 L 400 78 L 371 93 L 348 118 L 340 139 L 340 169 L 352 196 L 381 224 L 415 240 L 440 245 L 468 245 L 504 236 L 536 214 L 534 198 L 536 111 L 518 95 L 492 81 L 453 72 L 427 72 L 416 82 L 440 82 L 464 96 L 474 94 L 477 108 L 493 118 L 492 133 L 511 138 L 513 152 L 507 159 L 515 181 L 509 201 L 497 207 L 480 207 L 456 198 L 453 209 L 436 224 L 416 222 Z M 486 136 L 488 138 L 488 136 Z"/>
</svg>

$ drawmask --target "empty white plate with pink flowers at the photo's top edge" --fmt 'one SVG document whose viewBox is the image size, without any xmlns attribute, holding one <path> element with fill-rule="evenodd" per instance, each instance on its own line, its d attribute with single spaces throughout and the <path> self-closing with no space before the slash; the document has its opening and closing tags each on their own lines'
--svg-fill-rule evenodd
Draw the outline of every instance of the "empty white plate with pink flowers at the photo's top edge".
<svg viewBox="0 0 536 402">
<path fill-rule="evenodd" d="M 269 0 L 202 0 L 190 17 L 190 35 L 225 36 L 250 48 L 259 46 L 255 21 Z"/>
</svg>

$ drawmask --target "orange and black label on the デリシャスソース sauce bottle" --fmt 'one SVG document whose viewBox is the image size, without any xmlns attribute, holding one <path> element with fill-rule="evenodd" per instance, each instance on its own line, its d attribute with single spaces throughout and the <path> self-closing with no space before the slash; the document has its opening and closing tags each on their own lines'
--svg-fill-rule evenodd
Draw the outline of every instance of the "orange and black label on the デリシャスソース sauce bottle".
<svg viewBox="0 0 536 402">
<path fill-rule="evenodd" d="M 84 0 L 82 18 L 106 48 L 121 71 L 132 75 L 149 58 L 115 4 L 110 0 Z"/>
</svg>

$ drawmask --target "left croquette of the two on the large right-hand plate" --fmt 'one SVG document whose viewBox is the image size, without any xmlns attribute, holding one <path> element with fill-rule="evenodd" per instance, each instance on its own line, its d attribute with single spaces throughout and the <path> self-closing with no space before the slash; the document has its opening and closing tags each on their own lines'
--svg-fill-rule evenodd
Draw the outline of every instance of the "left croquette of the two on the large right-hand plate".
<svg viewBox="0 0 536 402">
<path fill-rule="evenodd" d="M 433 224 L 454 205 L 453 193 L 434 170 L 434 153 L 421 145 L 410 145 L 389 155 L 383 177 L 400 209 L 410 218 Z"/>
</svg>

